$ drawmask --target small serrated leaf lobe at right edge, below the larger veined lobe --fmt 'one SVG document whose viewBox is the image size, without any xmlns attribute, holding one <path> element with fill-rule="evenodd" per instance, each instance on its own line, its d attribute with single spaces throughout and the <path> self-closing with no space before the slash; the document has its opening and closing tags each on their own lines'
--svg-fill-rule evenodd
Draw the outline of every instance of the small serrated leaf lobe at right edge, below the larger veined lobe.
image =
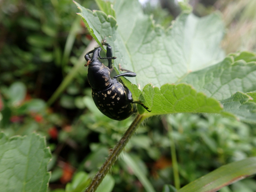
<svg viewBox="0 0 256 192">
<path fill-rule="evenodd" d="M 256 123 L 256 103 L 245 93 L 237 92 L 230 98 L 221 101 L 224 110 L 236 115 L 238 120 Z"/>
</svg>

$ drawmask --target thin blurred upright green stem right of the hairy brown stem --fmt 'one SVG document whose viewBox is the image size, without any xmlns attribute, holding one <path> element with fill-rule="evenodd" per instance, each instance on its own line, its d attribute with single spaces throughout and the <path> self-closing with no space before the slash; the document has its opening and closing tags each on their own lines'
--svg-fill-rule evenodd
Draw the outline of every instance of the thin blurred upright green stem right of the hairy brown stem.
<svg viewBox="0 0 256 192">
<path fill-rule="evenodd" d="M 175 188 L 179 190 L 181 188 L 180 180 L 179 180 L 179 167 L 177 162 L 177 156 L 176 156 L 176 149 L 175 149 L 175 142 L 173 138 L 173 127 L 167 123 L 168 130 L 169 130 L 169 139 L 171 144 L 171 156 L 172 156 L 172 162 L 173 162 L 173 176 L 174 176 L 174 184 Z"/>
</svg>

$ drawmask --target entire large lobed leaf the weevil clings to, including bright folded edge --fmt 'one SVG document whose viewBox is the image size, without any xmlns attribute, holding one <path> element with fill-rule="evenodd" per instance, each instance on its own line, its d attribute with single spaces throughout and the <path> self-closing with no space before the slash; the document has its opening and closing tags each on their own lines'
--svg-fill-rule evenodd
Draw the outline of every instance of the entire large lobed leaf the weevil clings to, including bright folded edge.
<svg viewBox="0 0 256 192">
<path fill-rule="evenodd" d="M 219 14 L 198 18 L 183 12 L 165 30 L 143 13 L 137 0 L 119 0 L 114 6 L 97 3 L 104 12 L 76 3 L 79 15 L 100 46 L 106 37 L 117 57 L 116 69 L 121 64 L 137 74 L 121 79 L 133 99 L 151 110 L 138 105 L 140 114 L 219 113 L 256 123 L 253 104 L 252 109 L 242 110 L 224 102 L 236 92 L 256 90 L 256 56 L 242 52 L 224 58 L 219 46 L 224 25 Z"/>
</svg>

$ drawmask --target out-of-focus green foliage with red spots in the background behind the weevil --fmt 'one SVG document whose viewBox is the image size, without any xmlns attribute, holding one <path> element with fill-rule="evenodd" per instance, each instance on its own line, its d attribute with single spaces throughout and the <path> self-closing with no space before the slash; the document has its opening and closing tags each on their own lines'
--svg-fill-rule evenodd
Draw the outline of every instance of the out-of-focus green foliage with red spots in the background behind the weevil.
<svg viewBox="0 0 256 192">
<path fill-rule="evenodd" d="M 92 0 L 79 3 L 97 9 Z M 92 101 L 86 70 L 79 71 L 53 107 L 46 105 L 91 40 L 72 1 L 4 0 L 0 9 L 0 131 L 45 135 L 53 153 L 49 190 L 84 188 L 134 117 L 114 121 L 102 115 Z M 147 4 L 145 12 L 164 26 L 174 18 L 160 6 Z M 223 164 L 256 156 L 254 127 L 217 115 L 152 117 L 130 139 L 126 153 L 156 191 L 175 191 L 170 134 L 183 186 Z M 121 155 L 108 179 L 115 192 L 144 191 L 137 176 Z M 255 186 L 250 178 L 221 192 L 250 192 Z"/>
</svg>

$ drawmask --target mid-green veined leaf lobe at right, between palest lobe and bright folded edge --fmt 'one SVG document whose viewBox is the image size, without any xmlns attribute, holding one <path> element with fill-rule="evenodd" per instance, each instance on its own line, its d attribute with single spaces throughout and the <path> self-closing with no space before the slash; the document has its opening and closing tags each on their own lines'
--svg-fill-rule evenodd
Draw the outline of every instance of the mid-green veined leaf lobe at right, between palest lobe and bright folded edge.
<svg viewBox="0 0 256 192">
<path fill-rule="evenodd" d="M 238 59 L 239 58 L 239 59 Z M 189 73 L 181 82 L 189 83 L 197 91 L 221 101 L 237 91 L 256 90 L 256 61 L 252 53 L 242 52 L 228 56 L 220 63 L 200 71 Z"/>
</svg>

